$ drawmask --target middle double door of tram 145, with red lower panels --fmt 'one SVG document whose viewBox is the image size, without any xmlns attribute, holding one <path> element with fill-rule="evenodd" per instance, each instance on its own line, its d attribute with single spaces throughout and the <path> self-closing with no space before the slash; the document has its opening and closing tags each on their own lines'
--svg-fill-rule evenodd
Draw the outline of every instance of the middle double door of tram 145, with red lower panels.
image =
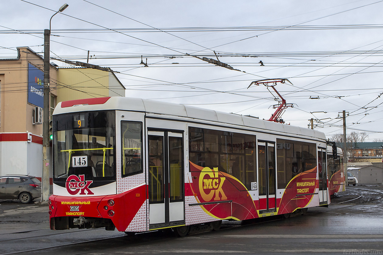
<svg viewBox="0 0 383 255">
<path fill-rule="evenodd" d="M 275 143 L 258 141 L 258 183 L 260 213 L 277 211 Z"/>
</svg>

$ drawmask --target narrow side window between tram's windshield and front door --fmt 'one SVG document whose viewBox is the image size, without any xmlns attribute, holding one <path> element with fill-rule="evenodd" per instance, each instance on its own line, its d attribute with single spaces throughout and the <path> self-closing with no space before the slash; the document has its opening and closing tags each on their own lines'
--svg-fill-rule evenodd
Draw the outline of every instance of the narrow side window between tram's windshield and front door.
<svg viewBox="0 0 383 255">
<path fill-rule="evenodd" d="M 121 121 L 121 176 L 140 174 L 142 170 L 142 123 Z"/>
</svg>

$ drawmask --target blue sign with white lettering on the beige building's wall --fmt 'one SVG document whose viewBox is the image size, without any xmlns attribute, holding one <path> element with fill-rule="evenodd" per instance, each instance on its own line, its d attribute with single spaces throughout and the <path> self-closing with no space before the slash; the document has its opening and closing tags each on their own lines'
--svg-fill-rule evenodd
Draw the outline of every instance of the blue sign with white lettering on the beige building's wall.
<svg viewBox="0 0 383 255">
<path fill-rule="evenodd" d="M 28 103 L 44 108 L 44 72 L 28 63 Z"/>
</svg>

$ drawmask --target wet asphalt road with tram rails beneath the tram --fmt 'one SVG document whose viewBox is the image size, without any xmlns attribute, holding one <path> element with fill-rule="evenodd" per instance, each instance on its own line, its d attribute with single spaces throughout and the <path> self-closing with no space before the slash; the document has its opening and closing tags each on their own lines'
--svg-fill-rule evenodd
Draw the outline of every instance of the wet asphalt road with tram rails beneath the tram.
<svg viewBox="0 0 383 255">
<path fill-rule="evenodd" d="M 374 186 L 349 187 L 329 208 L 309 208 L 306 215 L 230 221 L 187 237 L 51 231 L 47 205 L 0 200 L 0 254 L 383 254 L 383 185 Z"/>
</svg>

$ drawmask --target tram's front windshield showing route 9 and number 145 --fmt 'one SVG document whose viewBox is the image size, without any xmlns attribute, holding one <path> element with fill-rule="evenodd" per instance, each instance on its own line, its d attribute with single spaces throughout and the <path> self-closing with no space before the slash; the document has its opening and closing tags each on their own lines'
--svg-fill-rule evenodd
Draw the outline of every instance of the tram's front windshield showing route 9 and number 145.
<svg viewBox="0 0 383 255">
<path fill-rule="evenodd" d="M 53 180 L 85 175 L 85 180 L 116 180 L 115 112 L 53 116 Z"/>
</svg>

